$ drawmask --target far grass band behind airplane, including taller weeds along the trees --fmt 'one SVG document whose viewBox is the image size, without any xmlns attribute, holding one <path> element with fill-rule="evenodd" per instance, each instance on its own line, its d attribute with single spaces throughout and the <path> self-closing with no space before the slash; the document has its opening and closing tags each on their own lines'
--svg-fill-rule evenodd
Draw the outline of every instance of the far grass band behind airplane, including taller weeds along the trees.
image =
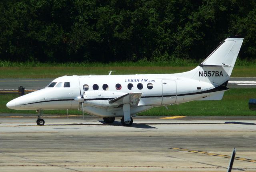
<svg viewBox="0 0 256 172">
<path fill-rule="evenodd" d="M 202 60 L 171 58 L 166 61 L 137 62 L 67 62 L 40 63 L 35 61 L 11 62 L 0 61 L 0 78 L 56 78 L 64 75 L 113 75 L 180 73 L 194 69 Z M 255 77 L 256 60 L 237 59 L 232 77 Z"/>
</svg>

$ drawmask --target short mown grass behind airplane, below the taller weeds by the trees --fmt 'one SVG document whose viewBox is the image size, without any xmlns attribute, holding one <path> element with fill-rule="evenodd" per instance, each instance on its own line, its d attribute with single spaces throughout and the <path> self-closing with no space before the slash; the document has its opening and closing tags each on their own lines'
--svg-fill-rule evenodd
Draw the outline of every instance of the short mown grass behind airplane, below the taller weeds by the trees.
<svg viewBox="0 0 256 172">
<path fill-rule="evenodd" d="M 185 67 L 0 67 L 0 78 L 57 78 L 64 75 L 112 75 L 123 74 L 153 74 L 153 73 L 180 73 L 194 69 L 194 66 Z M 231 77 L 256 77 L 255 66 L 234 67 Z"/>
</svg>

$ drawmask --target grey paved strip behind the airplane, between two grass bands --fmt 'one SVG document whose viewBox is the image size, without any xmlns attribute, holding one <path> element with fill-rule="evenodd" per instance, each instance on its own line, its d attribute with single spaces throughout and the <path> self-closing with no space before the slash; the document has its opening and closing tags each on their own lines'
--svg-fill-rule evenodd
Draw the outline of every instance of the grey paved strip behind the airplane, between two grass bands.
<svg viewBox="0 0 256 172">
<path fill-rule="evenodd" d="M 0 79 L 0 90 L 18 89 L 42 89 L 54 79 Z M 256 88 L 256 77 L 230 78 L 228 88 Z"/>
</svg>

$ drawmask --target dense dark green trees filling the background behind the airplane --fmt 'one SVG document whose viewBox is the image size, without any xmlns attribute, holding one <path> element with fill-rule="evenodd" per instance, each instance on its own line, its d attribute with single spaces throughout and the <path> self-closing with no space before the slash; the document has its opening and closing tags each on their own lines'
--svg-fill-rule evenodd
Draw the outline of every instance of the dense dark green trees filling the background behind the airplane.
<svg viewBox="0 0 256 172">
<path fill-rule="evenodd" d="M 254 0 L 2 0 L 0 60 L 202 59 L 230 35 L 256 56 Z"/>
</svg>

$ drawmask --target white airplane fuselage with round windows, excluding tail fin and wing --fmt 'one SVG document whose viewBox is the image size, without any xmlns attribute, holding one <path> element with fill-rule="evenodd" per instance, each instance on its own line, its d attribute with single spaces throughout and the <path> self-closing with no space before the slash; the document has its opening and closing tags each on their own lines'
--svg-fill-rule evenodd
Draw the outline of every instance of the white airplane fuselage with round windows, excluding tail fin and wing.
<svg viewBox="0 0 256 172">
<path fill-rule="evenodd" d="M 65 82 L 70 83 L 70 87 L 63 87 Z M 83 95 L 84 112 L 100 117 L 122 117 L 122 107 L 110 105 L 108 101 L 126 93 L 142 93 L 138 106 L 131 107 L 134 115 L 156 106 L 207 99 L 211 93 L 223 91 L 211 83 L 176 74 L 74 75 L 59 77 L 52 83 L 56 83 L 54 87 L 18 97 L 7 106 L 20 110 L 78 109 L 79 102 L 75 99 Z"/>
</svg>

